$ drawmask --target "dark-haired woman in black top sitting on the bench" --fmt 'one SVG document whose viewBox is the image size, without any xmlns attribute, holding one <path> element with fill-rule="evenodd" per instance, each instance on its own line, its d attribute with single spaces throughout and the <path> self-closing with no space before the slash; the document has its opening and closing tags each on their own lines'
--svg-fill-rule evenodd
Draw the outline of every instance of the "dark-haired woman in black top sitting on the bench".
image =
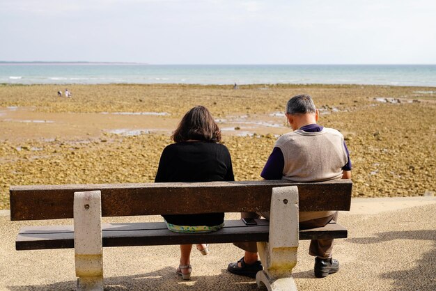
<svg viewBox="0 0 436 291">
<path fill-rule="evenodd" d="M 159 161 L 155 182 L 234 181 L 230 153 L 221 141 L 221 131 L 203 106 L 189 110 L 180 121 Z M 164 215 L 166 226 L 176 233 L 208 233 L 224 226 L 224 213 Z M 203 255 L 207 244 L 197 244 Z M 189 280 L 192 244 L 180 245 L 177 274 Z"/>
</svg>

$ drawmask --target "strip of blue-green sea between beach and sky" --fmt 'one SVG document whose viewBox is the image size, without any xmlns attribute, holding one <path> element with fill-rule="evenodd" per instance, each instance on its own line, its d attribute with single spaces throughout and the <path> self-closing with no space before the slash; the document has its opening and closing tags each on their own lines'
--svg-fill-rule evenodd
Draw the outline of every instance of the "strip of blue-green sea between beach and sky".
<svg viewBox="0 0 436 291">
<path fill-rule="evenodd" d="M 0 84 L 367 84 L 436 87 L 436 65 L 0 62 Z"/>
</svg>

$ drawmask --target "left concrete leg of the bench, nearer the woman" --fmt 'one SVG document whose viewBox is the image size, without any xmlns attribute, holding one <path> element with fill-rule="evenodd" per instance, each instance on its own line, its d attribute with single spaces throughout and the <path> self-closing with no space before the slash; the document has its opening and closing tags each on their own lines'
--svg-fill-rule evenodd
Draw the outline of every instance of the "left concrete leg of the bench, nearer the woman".
<svg viewBox="0 0 436 291">
<path fill-rule="evenodd" d="M 77 290 L 103 290 L 100 191 L 75 192 L 74 228 Z"/>
</svg>

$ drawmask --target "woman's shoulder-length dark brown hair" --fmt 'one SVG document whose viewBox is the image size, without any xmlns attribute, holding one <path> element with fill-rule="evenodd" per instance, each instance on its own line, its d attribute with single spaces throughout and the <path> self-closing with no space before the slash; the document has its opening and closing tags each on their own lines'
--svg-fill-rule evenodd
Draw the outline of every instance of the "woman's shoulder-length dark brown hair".
<svg viewBox="0 0 436 291">
<path fill-rule="evenodd" d="M 221 141 L 221 130 L 206 107 L 201 105 L 187 111 L 183 116 L 177 129 L 173 132 L 171 139 L 176 141 Z"/>
</svg>

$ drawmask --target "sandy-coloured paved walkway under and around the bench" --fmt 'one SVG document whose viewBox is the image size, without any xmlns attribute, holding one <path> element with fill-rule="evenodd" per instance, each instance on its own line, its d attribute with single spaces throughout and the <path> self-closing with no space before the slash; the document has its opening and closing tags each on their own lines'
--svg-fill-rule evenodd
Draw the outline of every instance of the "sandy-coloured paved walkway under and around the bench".
<svg viewBox="0 0 436 291">
<path fill-rule="evenodd" d="M 160 220 L 134 218 L 141 219 Z M 436 197 L 356 198 L 340 222 L 349 230 L 334 248 L 340 272 L 315 278 L 309 242 L 302 241 L 294 269 L 299 290 L 436 290 Z M 47 221 L 11 222 L 0 212 L 0 290 L 74 290 L 72 249 L 15 251 L 20 226 L 31 223 Z M 212 244 L 210 251 L 204 257 L 193 251 L 192 280 L 183 282 L 176 275 L 178 246 L 106 248 L 105 290 L 256 290 L 254 280 L 226 272 L 228 262 L 242 256 L 239 249 Z"/>
</svg>

